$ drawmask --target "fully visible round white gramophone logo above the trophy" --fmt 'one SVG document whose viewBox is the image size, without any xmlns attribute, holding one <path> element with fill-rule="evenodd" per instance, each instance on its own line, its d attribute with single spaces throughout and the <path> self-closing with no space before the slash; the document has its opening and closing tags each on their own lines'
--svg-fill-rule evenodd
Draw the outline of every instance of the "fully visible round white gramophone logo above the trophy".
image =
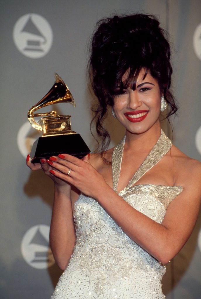
<svg viewBox="0 0 201 299">
<path fill-rule="evenodd" d="M 30 58 L 45 56 L 53 41 L 48 21 L 35 13 L 19 18 L 13 28 L 13 40 L 17 49 Z"/>
</svg>

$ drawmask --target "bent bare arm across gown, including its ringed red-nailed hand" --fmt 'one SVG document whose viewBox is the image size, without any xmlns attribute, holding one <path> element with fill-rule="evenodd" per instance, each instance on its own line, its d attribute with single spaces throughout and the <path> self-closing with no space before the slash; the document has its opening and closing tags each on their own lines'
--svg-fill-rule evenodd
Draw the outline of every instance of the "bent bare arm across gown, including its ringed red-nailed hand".
<svg viewBox="0 0 201 299">
<path fill-rule="evenodd" d="M 55 176 L 63 178 L 83 193 L 95 198 L 125 233 L 161 263 L 172 259 L 190 236 L 200 206 L 200 164 L 194 165 L 191 177 L 183 181 L 183 192 L 169 205 L 162 225 L 135 210 L 109 187 L 103 176 L 87 158 L 79 161 L 65 155 L 55 163 Z M 61 164 L 60 164 L 61 163 Z M 72 168 L 71 176 L 65 176 L 65 167 Z M 183 173 L 182 173 L 183 175 Z M 93 186 L 93 188 L 92 188 Z"/>
</svg>

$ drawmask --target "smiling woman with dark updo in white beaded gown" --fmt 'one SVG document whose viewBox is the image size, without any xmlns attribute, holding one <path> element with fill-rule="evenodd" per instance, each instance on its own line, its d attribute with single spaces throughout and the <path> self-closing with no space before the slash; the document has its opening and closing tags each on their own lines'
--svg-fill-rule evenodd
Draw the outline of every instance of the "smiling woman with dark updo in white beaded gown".
<svg viewBox="0 0 201 299">
<path fill-rule="evenodd" d="M 55 184 L 50 245 L 66 270 L 52 298 L 165 298 L 165 264 L 197 219 L 201 166 L 160 127 L 167 104 L 168 116 L 177 110 L 164 35 L 154 16 L 101 20 L 90 75 L 102 152 L 83 160 L 62 154 L 35 165 L 27 158 L 32 170 L 42 168 Z M 109 106 L 126 134 L 105 150 L 102 122 Z"/>
</svg>

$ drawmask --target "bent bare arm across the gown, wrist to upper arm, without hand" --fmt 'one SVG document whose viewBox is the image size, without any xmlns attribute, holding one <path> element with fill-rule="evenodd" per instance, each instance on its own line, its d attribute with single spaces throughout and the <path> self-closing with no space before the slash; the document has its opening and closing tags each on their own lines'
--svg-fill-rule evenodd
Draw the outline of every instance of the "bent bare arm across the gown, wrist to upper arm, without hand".
<svg viewBox="0 0 201 299">
<path fill-rule="evenodd" d="M 96 200 L 131 239 L 166 264 L 191 235 L 199 212 L 200 192 L 184 189 L 169 205 L 162 225 L 132 208 L 109 188 Z"/>
</svg>

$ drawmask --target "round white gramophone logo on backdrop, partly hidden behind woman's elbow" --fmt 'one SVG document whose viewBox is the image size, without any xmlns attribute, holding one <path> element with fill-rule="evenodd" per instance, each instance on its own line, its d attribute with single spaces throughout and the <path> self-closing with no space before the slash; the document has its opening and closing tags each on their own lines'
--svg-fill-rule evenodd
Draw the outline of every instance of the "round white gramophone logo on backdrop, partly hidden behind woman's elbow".
<svg viewBox="0 0 201 299">
<path fill-rule="evenodd" d="M 49 230 L 48 225 L 35 225 L 22 239 L 22 256 L 33 268 L 46 269 L 54 264 L 54 257 L 49 247 Z"/>
</svg>

